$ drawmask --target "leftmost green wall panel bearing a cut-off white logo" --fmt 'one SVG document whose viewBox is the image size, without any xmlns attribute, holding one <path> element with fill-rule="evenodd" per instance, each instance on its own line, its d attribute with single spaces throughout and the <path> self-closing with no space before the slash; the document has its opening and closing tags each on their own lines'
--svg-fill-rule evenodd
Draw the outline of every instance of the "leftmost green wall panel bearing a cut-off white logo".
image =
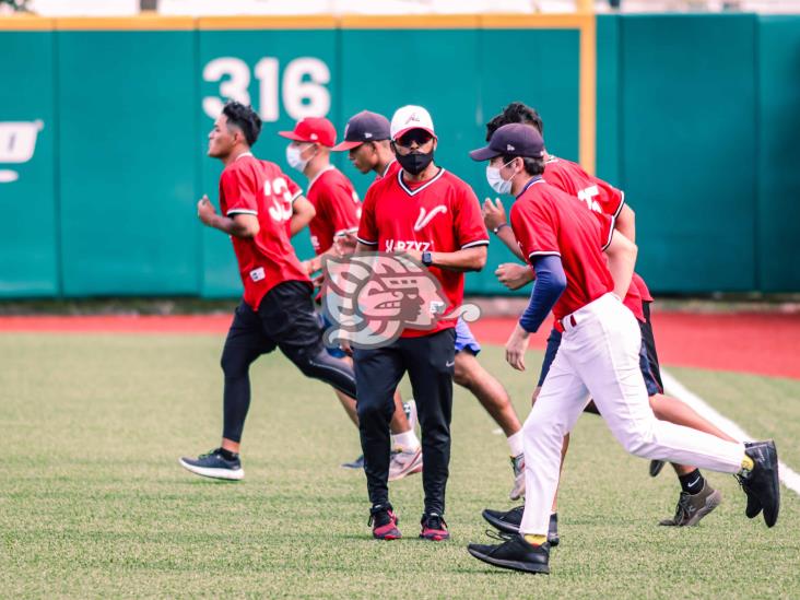
<svg viewBox="0 0 800 600">
<path fill-rule="evenodd" d="M 0 32 L 0 297 L 59 293 L 54 37 Z"/>
</svg>

